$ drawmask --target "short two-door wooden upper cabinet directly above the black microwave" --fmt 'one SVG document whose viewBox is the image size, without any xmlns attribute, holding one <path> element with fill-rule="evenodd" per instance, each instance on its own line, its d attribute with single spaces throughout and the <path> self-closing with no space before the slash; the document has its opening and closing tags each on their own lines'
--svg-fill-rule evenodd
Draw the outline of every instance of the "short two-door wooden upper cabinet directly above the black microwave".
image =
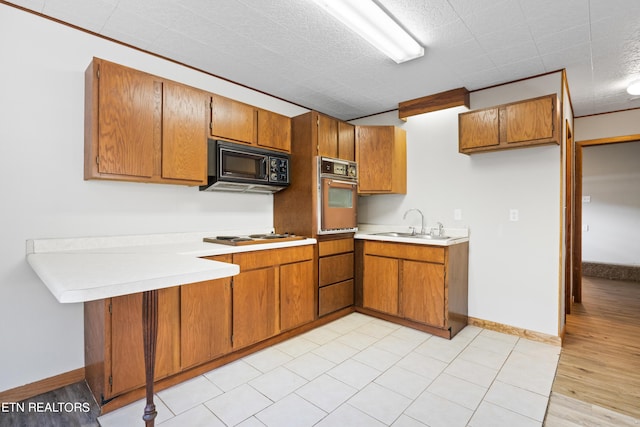
<svg viewBox="0 0 640 427">
<path fill-rule="evenodd" d="M 289 117 L 224 96 L 211 96 L 210 128 L 214 138 L 291 151 Z"/>
</svg>

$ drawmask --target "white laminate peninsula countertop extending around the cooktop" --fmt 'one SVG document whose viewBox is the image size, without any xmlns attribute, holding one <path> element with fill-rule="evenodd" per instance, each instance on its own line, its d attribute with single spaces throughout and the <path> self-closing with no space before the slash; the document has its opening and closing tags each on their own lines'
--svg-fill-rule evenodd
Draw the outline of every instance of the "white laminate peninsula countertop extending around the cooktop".
<svg viewBox="0 0 640 427">
<path fill-rule="evenodd" d="M 27 241 L 27 262 L 61 303 L 77 303 L 234 276 L 236 264 L 200 257 L 310 245 L 315 239 L 230 246 L 208 234 Z M 168 236 L 168 237 L 167 237 Z M 145 244 L 145 242 L 149 242 Z M 126 243 L 126 246 L 118 246 Z"/>
</svg>

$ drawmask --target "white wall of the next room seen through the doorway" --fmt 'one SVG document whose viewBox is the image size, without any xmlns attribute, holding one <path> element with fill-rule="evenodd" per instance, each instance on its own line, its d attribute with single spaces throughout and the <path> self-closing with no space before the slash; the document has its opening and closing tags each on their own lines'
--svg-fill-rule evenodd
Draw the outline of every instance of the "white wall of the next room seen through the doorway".
<svg viewBox="0 0 640 427">
<path fill-rule="evenodd" d="M 582 160 L 582 260 L 640 266 L 640 141 L 585 147 Z"/>
</svg>

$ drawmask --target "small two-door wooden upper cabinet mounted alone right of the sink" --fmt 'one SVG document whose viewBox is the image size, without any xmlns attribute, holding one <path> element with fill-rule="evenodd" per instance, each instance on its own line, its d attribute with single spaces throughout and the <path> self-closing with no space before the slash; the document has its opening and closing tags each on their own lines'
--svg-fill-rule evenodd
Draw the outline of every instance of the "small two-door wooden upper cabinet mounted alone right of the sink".
<svg viewBox="0 0 640 427">
<path fill-rule="evenodd" d="M 458 128 L 459 151 L 464 154 L 559 144 L 557 96 L 551 94 L 461 113 Z"/>
</svg>

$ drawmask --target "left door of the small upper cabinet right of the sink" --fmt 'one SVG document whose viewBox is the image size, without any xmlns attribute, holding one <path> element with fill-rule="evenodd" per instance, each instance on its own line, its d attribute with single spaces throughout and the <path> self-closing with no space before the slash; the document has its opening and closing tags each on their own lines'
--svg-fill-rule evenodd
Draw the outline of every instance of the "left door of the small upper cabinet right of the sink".
<svg viewBox="0 0 640 427">
<path fill-rule="evenodd" d="M 462 113 L 458 116 L 459 150 L 492 147 L 500 143 L 498 108 Z"/>
</svg>

